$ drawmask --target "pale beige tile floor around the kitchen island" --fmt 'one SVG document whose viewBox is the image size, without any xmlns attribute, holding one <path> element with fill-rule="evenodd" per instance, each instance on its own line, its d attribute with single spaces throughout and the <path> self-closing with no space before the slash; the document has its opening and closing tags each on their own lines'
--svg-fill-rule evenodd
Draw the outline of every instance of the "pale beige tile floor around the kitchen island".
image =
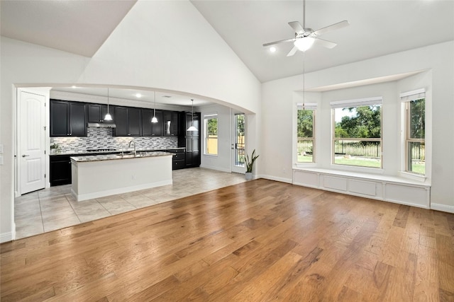
<svg viewBox="0 0 454 302">
<path fill-rule="evenodd" d="M 172 185 L 83 202 L 71 196 L 71 185 L 24 194 L 14 201 L 16 239 L 245 182 L 242 174 L 204 168 L 174 170 L 172 174 Z"/>
</svg>

